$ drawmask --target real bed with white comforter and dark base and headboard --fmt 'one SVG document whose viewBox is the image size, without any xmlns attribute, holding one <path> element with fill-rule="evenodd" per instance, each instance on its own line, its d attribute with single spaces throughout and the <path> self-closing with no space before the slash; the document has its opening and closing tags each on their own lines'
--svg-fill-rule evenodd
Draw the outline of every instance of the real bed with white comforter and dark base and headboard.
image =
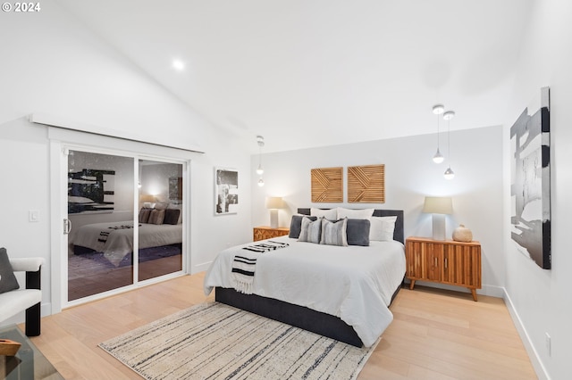
<svg viewBox="0 0 572 380">
<path fill-rule="evenodd" d="M 308 215 L 310 209 L 299 213 Z M 217 302 L 357 347 L 371 346 L 391 323 L 389 305 L 405 275 L 403 211 L 373 215 L 396 217 L 392 239 L 332 246 L 281 236 L 224 250 L 206 273 L 205 293 L 214 289 Z M 288 245 L 258 256 L 252 293 L 237 292 L 232 261 L 253 244 Z"/>
</svg>

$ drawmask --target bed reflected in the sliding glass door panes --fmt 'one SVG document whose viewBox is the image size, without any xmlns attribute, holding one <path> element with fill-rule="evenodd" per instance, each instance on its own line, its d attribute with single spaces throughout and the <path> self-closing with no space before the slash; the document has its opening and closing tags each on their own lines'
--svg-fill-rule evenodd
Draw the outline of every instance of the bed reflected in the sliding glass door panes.
<svg viewBox="0 0 572 380">
<path fill-rule="evenodd" d="M 74 254 L 103 253 L 115 267 L 130 265 L 133 221 L 94 223 L 79 227 L 72 237 Z M 182 224 L 139 223 L 139 261 L 181 253 Z"/>
</svg>

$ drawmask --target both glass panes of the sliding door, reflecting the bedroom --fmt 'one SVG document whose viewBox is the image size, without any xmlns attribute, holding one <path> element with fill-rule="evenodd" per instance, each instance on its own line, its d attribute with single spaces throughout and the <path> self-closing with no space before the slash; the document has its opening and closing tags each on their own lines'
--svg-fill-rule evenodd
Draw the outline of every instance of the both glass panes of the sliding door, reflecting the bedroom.
<svg viewBox="0 0 572 380">
<path fill-rule="evenodd" d="M 69 150 L 67 302 L 182 270 L 184 163 Z"/>
</svg>

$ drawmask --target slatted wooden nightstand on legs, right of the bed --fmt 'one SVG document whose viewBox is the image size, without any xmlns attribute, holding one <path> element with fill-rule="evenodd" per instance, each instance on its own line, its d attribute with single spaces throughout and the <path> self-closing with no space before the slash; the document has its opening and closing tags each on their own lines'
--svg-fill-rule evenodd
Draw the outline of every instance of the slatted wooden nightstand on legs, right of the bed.
<svg viewBox="0 0 572 380">
<path fill-rule="evenodd" d="M 408 237 L 405 243 L 406 277 L 413 289 L 416 280 L 467 287 L 476 301 L 481 288 L 481 244 Z"/>
</svg>

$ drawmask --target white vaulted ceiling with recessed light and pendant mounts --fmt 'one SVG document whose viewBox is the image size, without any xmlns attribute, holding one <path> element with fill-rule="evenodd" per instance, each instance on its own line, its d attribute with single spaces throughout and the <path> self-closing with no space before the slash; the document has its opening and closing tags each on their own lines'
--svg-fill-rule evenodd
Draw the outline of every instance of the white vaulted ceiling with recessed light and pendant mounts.
<svg viewBox="0 0 572 380">
<path fill-rule="evenodd" d="M 501 125 L 529 0 L 58 0 L 257 152 Z M 175 70 L 172 60 L 184 62 Z M 445 124 L 442 123 L 442 127 Z"/>
</svg>

